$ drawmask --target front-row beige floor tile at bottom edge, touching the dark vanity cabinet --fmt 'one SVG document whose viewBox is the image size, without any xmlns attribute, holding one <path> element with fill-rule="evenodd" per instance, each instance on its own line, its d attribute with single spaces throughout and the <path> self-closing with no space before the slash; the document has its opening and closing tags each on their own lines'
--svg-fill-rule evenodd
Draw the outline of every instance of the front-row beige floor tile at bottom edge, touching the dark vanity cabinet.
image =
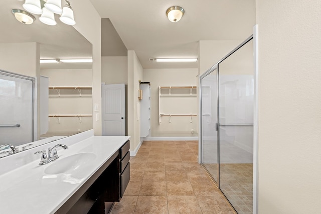
<svg viewBox="0 0 321 214">
<path fill-rule="evenodd" d="M 110 214 L 134 213 L 138 196 L 123 196 L 119 202 L 115 202 Z"/>
</svg>

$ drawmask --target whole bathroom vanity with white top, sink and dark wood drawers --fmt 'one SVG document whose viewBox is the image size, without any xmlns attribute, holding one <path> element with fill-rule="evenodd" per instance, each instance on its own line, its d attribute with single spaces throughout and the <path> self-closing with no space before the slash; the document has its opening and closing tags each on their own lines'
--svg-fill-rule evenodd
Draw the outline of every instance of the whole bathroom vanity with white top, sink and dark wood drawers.
<svg viewBox="0 0 321 214">
<path fill-rule="evenodd" d="M 69 148 L 39 165 L 34 153 L 58 143 Z M 91 130 L 20 153 L 0 159 L 1 213 L 108 213 L 129 182 L 129 136 Z"/>
</svg>

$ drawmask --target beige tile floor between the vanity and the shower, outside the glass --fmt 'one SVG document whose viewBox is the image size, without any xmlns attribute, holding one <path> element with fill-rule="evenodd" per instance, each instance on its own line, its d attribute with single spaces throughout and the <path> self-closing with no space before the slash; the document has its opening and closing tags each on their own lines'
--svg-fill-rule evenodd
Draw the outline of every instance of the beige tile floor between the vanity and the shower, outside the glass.
<svg viewBox="0 0 321 214">
<path fill-rule="evenodd" d="M 111 213 L 236 213 L 197 156 L 198 141 L 144 141 Z"/>
</svg>

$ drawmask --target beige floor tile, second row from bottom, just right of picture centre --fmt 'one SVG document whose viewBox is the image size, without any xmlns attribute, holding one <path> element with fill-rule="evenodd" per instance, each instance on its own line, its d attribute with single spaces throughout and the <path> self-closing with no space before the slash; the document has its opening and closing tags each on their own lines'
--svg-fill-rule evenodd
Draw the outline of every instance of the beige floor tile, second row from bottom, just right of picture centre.
<svg viewBox="0 0 321 214">
<path fill-rule="evenodd" d="M 194 195 L 193 188 L 189 181 L 167 181 L 167 195 Z"/>
</svg>

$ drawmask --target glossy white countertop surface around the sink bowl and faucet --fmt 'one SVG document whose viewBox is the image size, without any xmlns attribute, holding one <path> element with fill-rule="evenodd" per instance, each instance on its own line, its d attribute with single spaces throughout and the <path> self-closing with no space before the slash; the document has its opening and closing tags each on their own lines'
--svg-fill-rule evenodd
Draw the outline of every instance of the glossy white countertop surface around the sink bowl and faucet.
<svg viewBox="0 0 321 214">
<path fill-rule="evenodd" d="M 0 212 L 2 214 L 54 213 L 128 139 L 129 136 L 92 136 L 72 145 L 67 144 L 69 149 L 57 148 L 59 159 L 55 161 L 81 152 L 92 152 L 97 155 L 77 176 L 68 173 L 46 174 L 44 170 L 55 161 L 39 165 L 40 155 L 39 159 L 1 175 Z M 57 143 L 60 142 L 56 141 Z M 46 147 L 48 150 L 48 146 Z"/>
</svg>

